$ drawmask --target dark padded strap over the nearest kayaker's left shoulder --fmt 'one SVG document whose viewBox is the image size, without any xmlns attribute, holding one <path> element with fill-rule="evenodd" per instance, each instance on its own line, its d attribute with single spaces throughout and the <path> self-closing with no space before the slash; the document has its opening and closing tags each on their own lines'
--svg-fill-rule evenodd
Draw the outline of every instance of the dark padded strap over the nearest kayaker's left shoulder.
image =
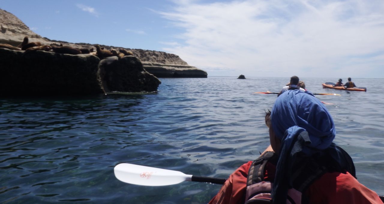
<svg viewBox="0 0 384 204">
<path fill-rule="evenodd" d="M 248 170 L 247 186 L 264 181 L 266 163 L 275 156 L 275 152 L 264 152 L 259 158 L 252 162 Z"/>
</svg>

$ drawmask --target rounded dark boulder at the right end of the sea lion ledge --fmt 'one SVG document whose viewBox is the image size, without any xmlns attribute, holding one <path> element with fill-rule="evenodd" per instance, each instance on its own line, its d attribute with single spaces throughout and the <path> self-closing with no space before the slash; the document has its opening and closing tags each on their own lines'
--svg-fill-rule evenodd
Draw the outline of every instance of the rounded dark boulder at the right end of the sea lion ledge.
<svg viewBox="0 0 384 204">
<path fill-rule="evenodd" d="M 159 79 L 144 70 L 141 61 L 134 56 L 101 60 L 99 79 L 105 92 L 153 92 L 161 84 Z"/>
</svg>

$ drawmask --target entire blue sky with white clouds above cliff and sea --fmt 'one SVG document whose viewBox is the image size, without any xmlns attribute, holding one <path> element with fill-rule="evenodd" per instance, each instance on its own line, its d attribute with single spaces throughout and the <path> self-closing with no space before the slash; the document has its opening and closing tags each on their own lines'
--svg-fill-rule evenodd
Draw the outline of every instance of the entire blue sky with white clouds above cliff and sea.
<svg viewBox="0 0 384 204">
<path fill-rule="evenodd" d="M 384 0 L 0 0 L 0 8 L 51 40 L 168 52 L 208 76 L 384 78 Z"/>
</svg>

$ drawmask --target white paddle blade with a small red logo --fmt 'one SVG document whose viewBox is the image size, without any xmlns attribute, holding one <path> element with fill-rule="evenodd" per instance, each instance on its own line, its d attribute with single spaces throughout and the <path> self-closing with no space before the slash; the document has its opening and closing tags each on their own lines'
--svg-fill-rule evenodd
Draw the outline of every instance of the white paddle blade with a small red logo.
<svg viewBox="0 0 384 204">
<path fill-rule="evenodd" d="M 116 165 L 114 173 L 116 178 L 122 182 L 141 186 L 167 186 L 190 181 L 192 178 L 192 175 L 180 171 L 126 163 Z"/>
</svg>

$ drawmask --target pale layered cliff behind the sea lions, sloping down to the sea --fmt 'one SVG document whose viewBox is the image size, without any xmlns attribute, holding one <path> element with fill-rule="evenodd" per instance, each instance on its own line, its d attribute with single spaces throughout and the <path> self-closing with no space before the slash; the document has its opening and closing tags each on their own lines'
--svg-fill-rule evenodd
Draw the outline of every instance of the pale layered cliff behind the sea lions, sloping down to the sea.
<svg viewBox="0 0 384 204">
<path fill-rule="evenodd" d="M 40 42 L 44 45 L 51 43 L 62 43 L 78 48 L 94 48 L 95 44 L 89 43 L 70 43 L 65 41 L 50 40 L 36 34 L 28 26 L 25 25 L 19 18 L 12 13 L 0 9 L 0 43 L 6 43 L 13 46 L 19 45 L 25 36 L 28 36 L 29 42 Z M 100 45 L 106 49 L 117 49 L 123 47 L 113 47 L 108 45 Z M 96 50 L 96 48 L 94 48 Z M 175 54 L 166 52 L 159 52 L 153 50 L 130 49 L 137 58 L 139 58 L 149 73 L 154 74 L 156 77 L 201 77 L 206 78 L 207 72 L 192 67 L 184 60 L 180 59 Z"/>
</svg>

